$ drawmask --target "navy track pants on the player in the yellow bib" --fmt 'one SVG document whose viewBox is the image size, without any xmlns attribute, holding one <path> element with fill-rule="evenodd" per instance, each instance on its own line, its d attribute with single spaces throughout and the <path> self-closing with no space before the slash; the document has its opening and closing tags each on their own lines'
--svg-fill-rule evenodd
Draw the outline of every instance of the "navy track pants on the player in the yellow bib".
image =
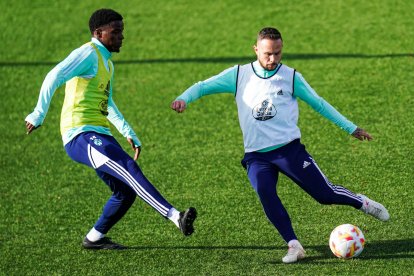
<svg viewBox="0 0 414 276">
<path fill-rule="evenodd" d="M 94 226 L 99 232 L 106 234 L 125 215 L 136 195 L 167 217 L 172 205 L 148 181 L 114 137 L 84 132 L 67 143 L 65 150 L 74 161 L 94 168 L 112 191 Z"/>
</svg>

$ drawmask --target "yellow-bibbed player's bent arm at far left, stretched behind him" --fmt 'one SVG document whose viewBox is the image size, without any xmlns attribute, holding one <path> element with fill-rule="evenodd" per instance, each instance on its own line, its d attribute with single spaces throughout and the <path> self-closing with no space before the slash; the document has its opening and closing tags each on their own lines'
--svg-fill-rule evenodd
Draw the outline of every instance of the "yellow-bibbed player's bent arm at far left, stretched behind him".
<svg viewBox="0 0 414 276">
<path fill-rule="evenodd" d="M 46 75 L 36 107 L 25 118 L 27 134 L 43 124 L 56 89 L 75 76 L 92 78 L 96 75 L 96 69 L 93 67 L 96 60 L 96 53 L 91 47 L 81 47 L 74 50 Z"/>
</svg>

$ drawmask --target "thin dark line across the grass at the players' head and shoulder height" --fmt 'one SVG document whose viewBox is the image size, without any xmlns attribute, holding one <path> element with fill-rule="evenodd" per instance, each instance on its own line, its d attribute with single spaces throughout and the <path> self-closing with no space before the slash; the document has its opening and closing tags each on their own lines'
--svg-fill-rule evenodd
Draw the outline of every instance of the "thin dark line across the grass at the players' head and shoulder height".
<svg viewBox="0 0 414 276">
<path fill-rule="evenodd" d="M 313 59 L 372 59 L 372 58 L 404 58 L 414 57 L 414 53 L 394 54 L 347 54 L 347 53 L 284 53 L 284 60 L 313 60 Z M 184 57 L 184 58 L 154 58 L 154 59 L 132 59 L 115 60 L 116 65 L 122 64 L 152 64 L 152 63 L 230 63 L 242 64 L 252 62 L 255 56 L 239 57 Z M 0 61 L 0 67 L 25 67 L 25 66 L 55 66 L 57 61 Z"/>
</svg>

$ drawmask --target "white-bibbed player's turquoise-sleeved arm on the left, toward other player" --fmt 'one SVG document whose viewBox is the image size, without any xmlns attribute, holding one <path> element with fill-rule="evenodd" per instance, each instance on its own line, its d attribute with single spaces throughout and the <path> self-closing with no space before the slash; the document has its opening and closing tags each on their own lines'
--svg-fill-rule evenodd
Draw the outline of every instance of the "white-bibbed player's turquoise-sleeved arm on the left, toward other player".
<svg viewBox="0 0 414 276">
<path fill-rule="evenodd" d="M 171 103 L 171 108 L 181 113 L 189 103 L 203 96 L 218 93 L 235 94 L 237 73 L 238 66 L 236 65 L 207 80 L 195 83 Z"/>
</svg>

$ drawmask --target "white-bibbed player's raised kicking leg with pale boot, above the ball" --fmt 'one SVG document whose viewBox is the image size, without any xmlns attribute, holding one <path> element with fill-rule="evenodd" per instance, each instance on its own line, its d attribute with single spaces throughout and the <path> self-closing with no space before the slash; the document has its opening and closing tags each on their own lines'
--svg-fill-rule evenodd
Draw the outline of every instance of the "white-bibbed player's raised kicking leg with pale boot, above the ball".
<svg viewBox="0 0 414 276">
<path fill-rule="evenodd" d="M 388 211 L 381 204 L 354 194 L 340 185 L 332 184 L 301 143 L 284 147 L 284 158 L 277 162 L 279 169 L 321 204 L 348 205 L 381 220 L 387 220 Z M 366 211 L 363 202 L 376 207 L 380 214 Z M 379 206 L 380 205 L 380 206 Z M 373 208 L 371 208 L 373 209 Z M 382 213 L 381 213 L 382 212 Z"/>
</svg>

